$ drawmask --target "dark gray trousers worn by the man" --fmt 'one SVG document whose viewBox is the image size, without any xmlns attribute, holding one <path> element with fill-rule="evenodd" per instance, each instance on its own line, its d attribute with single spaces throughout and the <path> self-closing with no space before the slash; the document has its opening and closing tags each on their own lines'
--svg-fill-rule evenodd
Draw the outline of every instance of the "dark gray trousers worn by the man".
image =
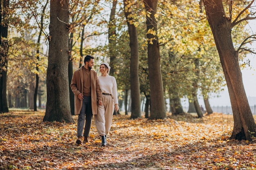
<svg viewBox="0 0 256 170">
<path fill-rule="evenodd" d="M 85 129 L 83 134 L 83 126 Z M 89 137 L 92 124 L 92 99 L 90 96 L 83 97 L 83 105 L 77 120 L 77 136 Z"/>
</svg>

